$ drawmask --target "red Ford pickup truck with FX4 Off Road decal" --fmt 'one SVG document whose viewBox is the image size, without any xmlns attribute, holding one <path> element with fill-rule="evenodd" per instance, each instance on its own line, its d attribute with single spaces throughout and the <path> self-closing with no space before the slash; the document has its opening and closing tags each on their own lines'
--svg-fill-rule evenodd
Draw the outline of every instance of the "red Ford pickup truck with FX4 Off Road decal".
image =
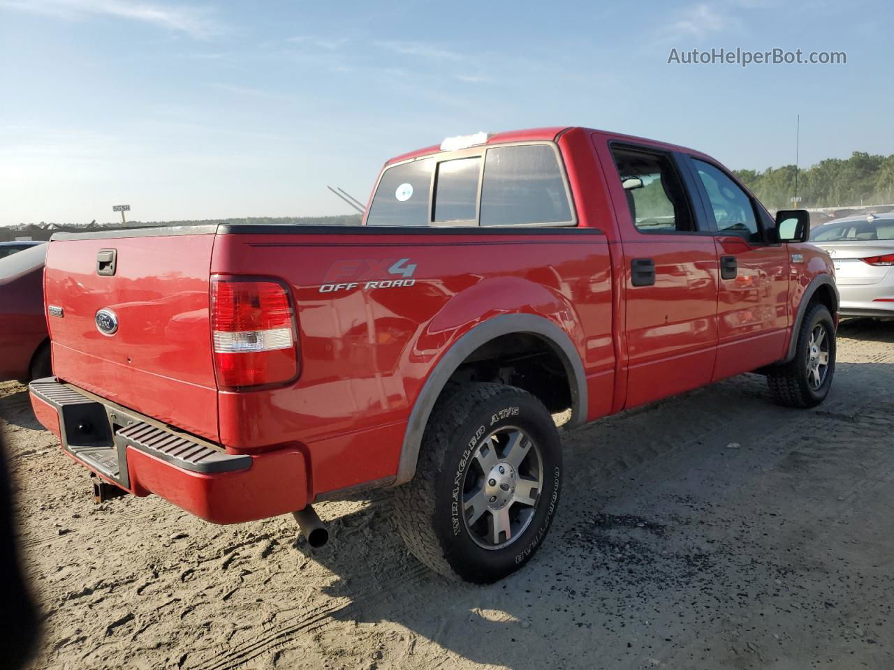
<svg viewBox="0 0 894 670">
<path fill-rule="evenodd" d="M 584 128 L 385 163 L 362 226 L 57 234 L 68 456 L 215 523 L 392 488 L 409 550 L 493 582 L 549 530 L 570 425 L 759 372 L 829 392 L 839 298 L 805 212 L 775 220 L 696 151 Z"/>
</svg>

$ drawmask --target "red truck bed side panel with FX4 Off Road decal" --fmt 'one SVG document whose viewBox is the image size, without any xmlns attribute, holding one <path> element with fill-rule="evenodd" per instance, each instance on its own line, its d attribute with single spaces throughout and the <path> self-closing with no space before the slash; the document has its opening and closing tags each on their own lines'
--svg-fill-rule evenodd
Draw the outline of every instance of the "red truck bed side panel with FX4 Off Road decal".
<svg viewBox="0 0 894 670">
<path fill-rule="evenodd" d="M 387 273 L 399 262 L 417 266 L 410 286 L 367 289 L 401 279 Z M 549 319 L 568 333 L 587 377 L 611 383 L 611 268 L 607 241 L 593 231 L 218 238 L 212 272 L 259 268 L 296 299 L 301 374 L 288 387 L 219 393 L 221 440 L 249 452 L 299 443 L 315 494 L 393 476 L 428 374 L 493 316 Z M 593 402 L 605 414 L 611 393 L 591 401 L 590 414 Z"/>
</svg>

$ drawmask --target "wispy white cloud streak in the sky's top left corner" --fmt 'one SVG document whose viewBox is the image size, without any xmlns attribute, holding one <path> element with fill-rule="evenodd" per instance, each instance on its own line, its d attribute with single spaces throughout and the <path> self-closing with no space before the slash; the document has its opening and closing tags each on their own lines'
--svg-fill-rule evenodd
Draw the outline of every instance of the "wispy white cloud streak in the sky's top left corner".
<svg viewBox="0 0 894 670">
<path fill-rule="evenodd" d="M 211 18 L 206 8 L 184 4 L 132 0 L 0 0 L 0 8 L 67 20 L 111 16 L 186 33 L 193 38 L 210 38 L 223 32 L 223 26 Z"/>
</svg>

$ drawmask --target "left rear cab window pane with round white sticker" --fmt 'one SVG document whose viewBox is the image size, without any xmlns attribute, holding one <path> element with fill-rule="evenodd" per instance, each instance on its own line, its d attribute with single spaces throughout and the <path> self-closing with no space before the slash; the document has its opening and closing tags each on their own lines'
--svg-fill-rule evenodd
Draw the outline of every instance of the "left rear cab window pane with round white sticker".
<svg viewBox="0 0 894 670">
<path fill-rule="evenodd" d="M 367 226 L 427 226 L 433 169 L 434 160 L 426 158 L 385 170 L 375 189 Z"/>
</svg>

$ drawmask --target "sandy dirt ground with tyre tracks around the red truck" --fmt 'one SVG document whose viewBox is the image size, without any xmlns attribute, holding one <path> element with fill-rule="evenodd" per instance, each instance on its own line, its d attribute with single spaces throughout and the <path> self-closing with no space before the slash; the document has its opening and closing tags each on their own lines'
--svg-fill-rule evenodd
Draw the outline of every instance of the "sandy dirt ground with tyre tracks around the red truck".
<svg viewBox="0 0 894 670">
<path fill-rule="evenodd" d="M 845 322 L 828 400 L 723 381 L 563 435 L 543 549 L 492 586 L 403 549 L 387 495 L 215 526 L 87 471 L 0 384 L 34 668 L 894 667 L 894 323 Z M 0 663 L 2 665 L 2 663 Z"/>
</svg>

